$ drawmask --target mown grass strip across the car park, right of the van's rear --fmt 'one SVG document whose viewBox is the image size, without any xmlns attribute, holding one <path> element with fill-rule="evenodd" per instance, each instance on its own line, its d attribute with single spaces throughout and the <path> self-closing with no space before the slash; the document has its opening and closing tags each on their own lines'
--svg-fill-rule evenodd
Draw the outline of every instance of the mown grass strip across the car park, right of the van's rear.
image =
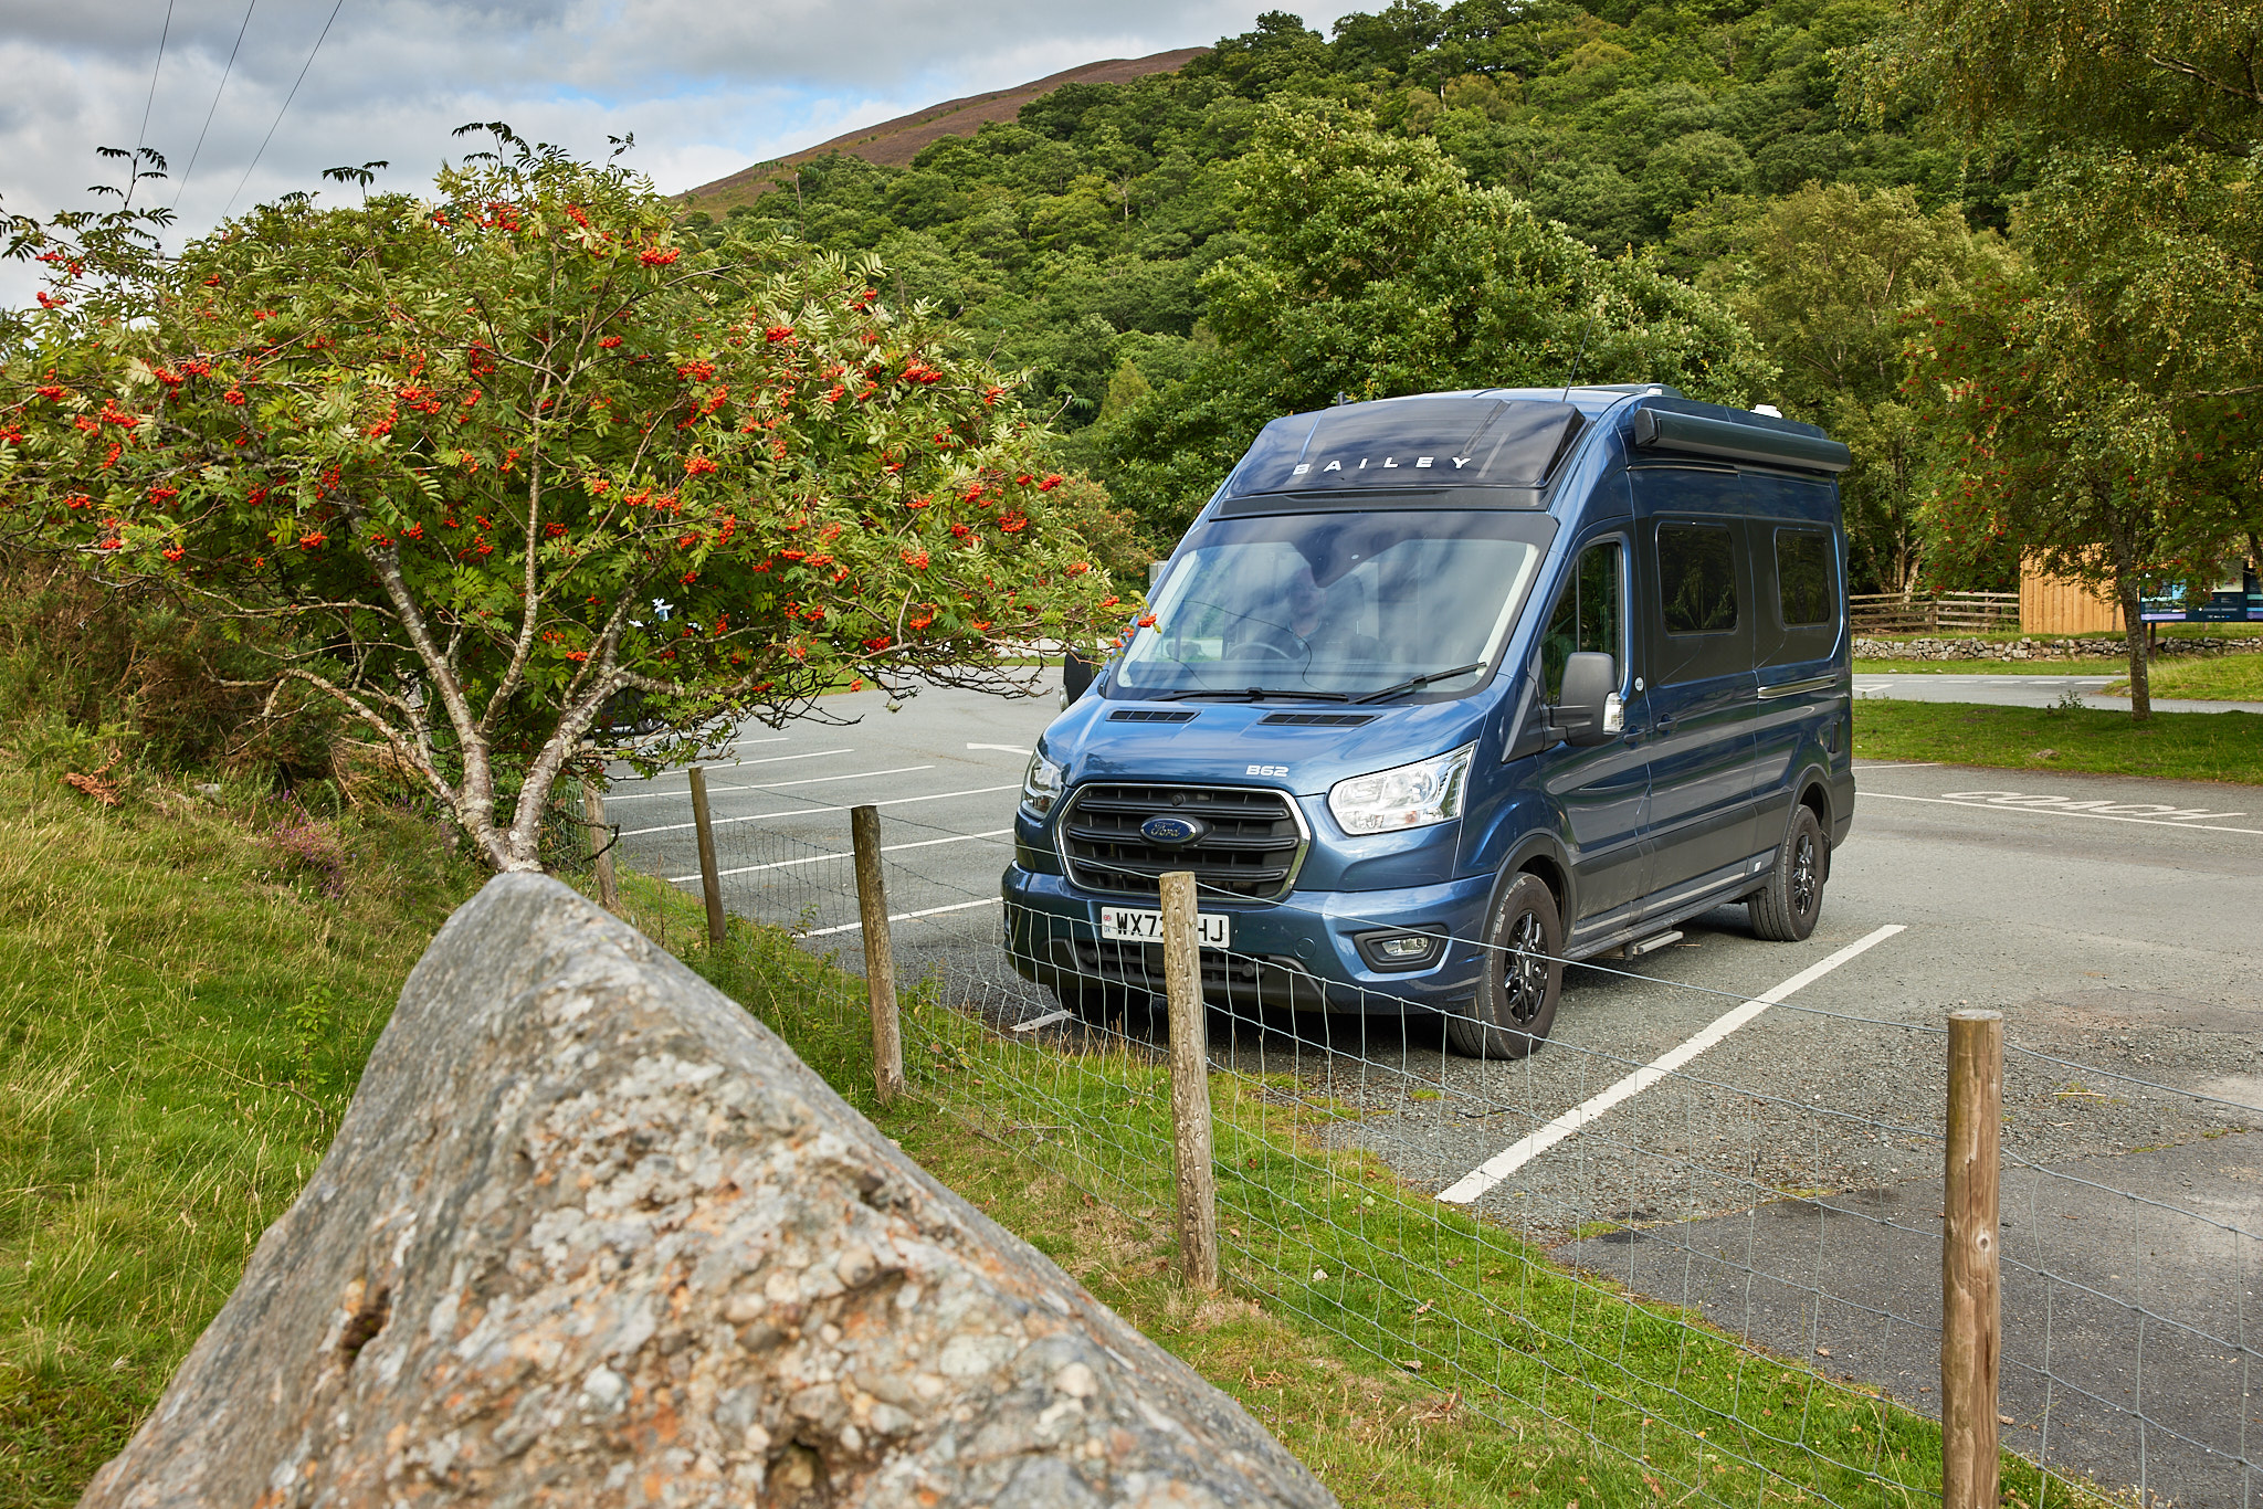
<svg viewBox="0 0 2263 1509">
<path fill-rule="evenodd" d="M 2154 713 L 2136 724 L 2105 708 L 1994 708 L 1967 701 L 1858 697 L 1853 753 L 2005 769 L 2263 783 L 2263 715 Z"/>
</svg>

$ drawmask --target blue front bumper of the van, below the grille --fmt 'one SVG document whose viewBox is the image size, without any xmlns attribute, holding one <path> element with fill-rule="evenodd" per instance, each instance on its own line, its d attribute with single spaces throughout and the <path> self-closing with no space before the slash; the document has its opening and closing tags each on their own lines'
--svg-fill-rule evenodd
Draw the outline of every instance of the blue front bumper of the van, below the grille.
<svg viewBox="0 0 2263 1509">
<path fill-rule="evenodd" d="M 1460 1009 L 1478 989 L 1485 955 L 1471 943 L 1491 878 L 1396 891 L 1292 891 L 1276 903 L 1204 900 L 1233 919 L 1229 948 L 1202 950 L 1202 993 L 1224 1009 L 1279 1007 L 1396 1016 Z M 1089 989 L 1163 993 L 1163 946 L 1100 937 L 1102 905 L 1152 907 L 1134 896 L 1095 896 L 1066 876 L 1012 864 L 1003 878 L 1005 937 L 1014 968 L 1070 998 Z M 1374 971 L 1356 934 L 1378 928 L 1446 930 L 1435 964 Z"/>
</svg>

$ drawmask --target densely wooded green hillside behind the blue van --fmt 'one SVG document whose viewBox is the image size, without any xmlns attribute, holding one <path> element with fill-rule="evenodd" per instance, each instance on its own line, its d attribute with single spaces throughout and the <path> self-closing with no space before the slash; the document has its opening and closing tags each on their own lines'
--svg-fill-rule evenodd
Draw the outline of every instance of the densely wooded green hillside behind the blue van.
<svg viewBox="0 0 2263 1509">
<path fill-rule="evenodd" d="M 1586 335 L 1591 380 L 1849 432 L 1858 570 L 1899 586 L 1896 310 L 1985 260 L 1967 226 L 2003 224 L 2023 161 L 1851 118 L 1833 52 L 1890 16 L 1401 2 L 1326 41 L 1274 11 L 1177 75 L 1070 84 L 903 170 L 801 163 L 729 217 L 880 251 L 896 292 L 1034 369 L 1073 459 L 1159 538 L 1283 407 L 1559 382 Z"/>
</svg>

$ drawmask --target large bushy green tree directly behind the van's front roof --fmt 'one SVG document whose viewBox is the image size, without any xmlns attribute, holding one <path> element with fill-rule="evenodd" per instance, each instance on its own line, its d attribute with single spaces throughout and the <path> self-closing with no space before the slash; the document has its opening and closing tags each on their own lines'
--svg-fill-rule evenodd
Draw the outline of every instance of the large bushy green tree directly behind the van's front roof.
<svg viewBox="0 0 2263 1509">
<path fill-rule="evenodd" d="M 1242 158 L 1249 253 L 1204 281 L 1213 357 L 1116 421 L 1118 498 L 1184 525 L 1267 419 L 1335 394 L 1670 382 L 1749 403 L 1767 360 L 1713 296 L 1602 258 L 1430 140 L 1342 109 L 1267 106 Z M 1575 373 L 1573 362 L 1584 364 Z"/>
</svg>

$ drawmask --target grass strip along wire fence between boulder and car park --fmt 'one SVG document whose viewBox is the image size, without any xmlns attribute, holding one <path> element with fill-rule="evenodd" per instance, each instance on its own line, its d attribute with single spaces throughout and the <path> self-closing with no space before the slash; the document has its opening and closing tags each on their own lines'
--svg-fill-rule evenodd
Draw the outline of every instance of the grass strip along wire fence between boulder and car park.
<svg viewBox="0 0 2263 1509">
<path fill-rule="evenodd" d="M 1930 1421 L 1403 1192 L 1324 1147 L 1356 1106 L 1281 1075 L 1213 1077 L 1227 1283 L 1195 1292 L 1174 1274 L 1154 1057 L 1005 1041 L 923 991 L 905 1014 L 914 1100 L 883 1111 L 858 980 L 740 923 L 708 952 L 692 898 L 643 878 L 627 896 L 905 1152 L 1233 1394 L 1346 1504 L 1937 1493 Z M 2005 1502 L 2037 1489 L 2007 1457 Z M 2053 1486 L 2068 1498 L 2084 1495 Z"/>
</svg>

